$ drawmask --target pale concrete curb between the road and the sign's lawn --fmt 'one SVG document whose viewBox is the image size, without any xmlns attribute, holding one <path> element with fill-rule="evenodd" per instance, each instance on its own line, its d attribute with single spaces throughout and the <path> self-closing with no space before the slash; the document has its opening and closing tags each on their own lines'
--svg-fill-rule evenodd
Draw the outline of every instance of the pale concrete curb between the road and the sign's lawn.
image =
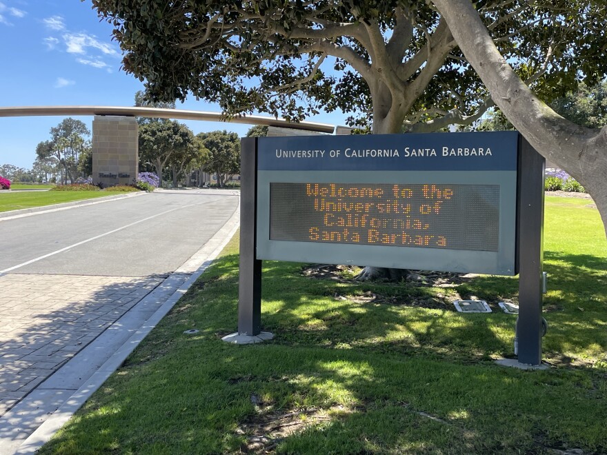
<svg viewBox="0 0 607 455">
<path fill-rule="evenodd" d="M 171 308 L 179 301 L 181 296 L 186 293 L 189 287 L 194 283 L 199 276 L 212 264 L 217 258 L 223 247 L 226 246 L 228 241 L 232 239 L 235 232 L 239 228 L 240 221 L 240 202 L 238 208 L 230 219 L 223 225 L 223 227 L 217 231 L 201 249 L 192 256 L 199 259 L 206 259 L 199 265 L 197 270 L 193 272 L 190 277 L 177 289 L 152 316 L 150 316 L 139 329 L 128 338 L 128 340 L 121 345 L 117 351 L 115 351 L 108 360 L 99 367 L 99 369 L 88 378 L 79 389 L 74 392 L 69 398 L 67 398 L 59 406 L 57 411 L 53 412 L 46 420 L 37 427 L 37 429 L 26 438 L 23 443 L 19 446 L 14 454 L 34 454 L 37 452 L 43 444 L 45 444 L 66 422 L 72 417 L 74 412 L 80 409 L 85 401 L 103 385 L 110 375 L 117 370 L 120 365 L 126 360 L 133 350 L 143 341 L 143 338 L 151 332 L 151 330 L 163 319 L 164 316 L 171 310 Z M 170 280 L 175 275 L 183 276 L 182 267 L 188 269 L 191 267 L 191 258 L 186 261 L 178 270 L 173 272 L 166 280 Z M 166 281 L 165 280 L 165 281 Z M 162 283 L 159 287 L 162 286 Z M 145 299 L 143 299 L 145 300 Z M 132 311 L 132 310 L 130 310 Z M 127 313 L 128 314 L 128 313 Z M 125 315 L 126 316 L 126 315 Z M 124 317 L 124 316 L 123 316 Z M 113 325 L 120 325 L 121 319 L 116 321 Z M 112 327 L 110 326 L 108 330 Z M 94 343 L 94 342 L 93 342 Z M 69 364 L 69 363 L 68 363 Z M 66 364 L 66 365 L 68 365 Z M 61 371 L 61 370 L 59 370 Z M 52 376 L 51 376 L 52 377 Z"/>
</svg>

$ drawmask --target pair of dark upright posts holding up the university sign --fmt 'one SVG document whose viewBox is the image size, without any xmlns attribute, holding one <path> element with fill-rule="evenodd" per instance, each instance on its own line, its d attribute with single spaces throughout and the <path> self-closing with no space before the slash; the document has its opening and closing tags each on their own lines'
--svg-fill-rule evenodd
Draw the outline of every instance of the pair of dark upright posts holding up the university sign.
<svg viewBox="0 0 607 455">
<path fill-rule="evenodd" d="M 258 163 L 258 139 L 241 139 L 238 333 L 246 336 L 257 336 L 261 332 L 262 260 L 257 259 L 258 217 L 260 214 Z M 519 363 L 526 365 L 541 363 L 544 167 L 544 158 L 519 134 L 517 136 L 514 272 L 519 272 L 518 358 Z M 264 213 L 263 210 L 261 213 Z M 299 261 L 298 259 L 292 260 Z"/>
</svg>

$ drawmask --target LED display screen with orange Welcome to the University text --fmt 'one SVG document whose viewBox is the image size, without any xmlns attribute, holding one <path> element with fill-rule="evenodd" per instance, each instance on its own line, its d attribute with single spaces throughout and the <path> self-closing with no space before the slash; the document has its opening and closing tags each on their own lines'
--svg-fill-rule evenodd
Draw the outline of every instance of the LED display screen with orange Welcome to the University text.
<svg viewBox="0 0 607 455">
<path fill-rule="evenodd" d="M 270 240 L 495 252 L 499 186 L 270 183 Z"/>
</svg>

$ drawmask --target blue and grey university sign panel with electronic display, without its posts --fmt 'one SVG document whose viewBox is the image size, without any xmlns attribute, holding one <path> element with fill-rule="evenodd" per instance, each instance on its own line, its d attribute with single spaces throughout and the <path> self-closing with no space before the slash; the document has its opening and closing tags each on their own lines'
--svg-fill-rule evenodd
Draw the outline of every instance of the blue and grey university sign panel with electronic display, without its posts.
<svg viewBox="0 0 607 455">
<path fill-rule="evenodd" d="M 517 132 L 257 142 L 257 259 L 513 275 Z"/>
</svg>

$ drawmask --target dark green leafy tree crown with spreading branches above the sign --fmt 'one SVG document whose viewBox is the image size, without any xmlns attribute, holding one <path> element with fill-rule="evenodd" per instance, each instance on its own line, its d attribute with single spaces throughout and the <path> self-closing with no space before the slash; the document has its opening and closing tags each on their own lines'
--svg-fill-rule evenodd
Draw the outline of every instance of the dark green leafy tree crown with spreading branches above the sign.
<svg viewBox="0 0 607 455">
<path fill-rule="evenodd" d="M 591 2 L 475 3 L 500 52 L 545 98 L 599 77 Z M 226 114 L 299 121 L 322 108 L 373 132 L 470 124 L 492 105 L 444 18 L 426 1 L 93 0 L 123 68 L 155 100 L 188 93 Z M 588 7 L 587 7 L 588 6 Z M 587 8 L 586 8 L 587 7 Z M 579 14 L 581 10 L 584 14 Z M 600 68 L 599 68 L 600 67 Z"/>
</svg>

